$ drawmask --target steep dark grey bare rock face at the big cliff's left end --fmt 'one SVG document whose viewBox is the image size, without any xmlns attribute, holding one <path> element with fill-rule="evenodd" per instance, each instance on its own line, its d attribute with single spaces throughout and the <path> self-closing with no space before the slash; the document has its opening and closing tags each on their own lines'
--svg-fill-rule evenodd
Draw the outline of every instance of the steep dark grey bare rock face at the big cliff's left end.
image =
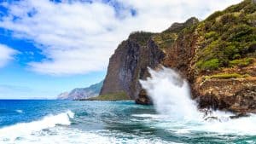
<svg viewBox="0 0 256 144">
<path fill-rule="evenodd" d="M 164 53 L 145 35 L 148 33 L 133 33 L 115 50 L 109 60 L 101 95 L 124 91 L 131 99 L 137 98 L 141 89 L 138 79 L 147 78 L 148 67 L 158 66 L 164 58 Z M 148 40 L 142 42 L 134 37 Z"/>
</svg>

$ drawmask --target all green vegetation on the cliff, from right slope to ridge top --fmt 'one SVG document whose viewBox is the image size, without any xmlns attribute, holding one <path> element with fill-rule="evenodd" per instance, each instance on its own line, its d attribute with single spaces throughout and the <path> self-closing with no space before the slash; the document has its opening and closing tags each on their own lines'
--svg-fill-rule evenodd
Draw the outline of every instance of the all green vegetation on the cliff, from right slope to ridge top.
<svg viewBox="0 0 256 144">
<path fill-rule="evenodd" d="M 201 22 L 190 18 L 184 23 L 174 23 L 166 31 L 154 34 L 152 39 L 160 49 L 169 50 L 167 56 L 177 52 L 173 50 L 175 47 L 196 46 L 197 72 L 250 65 L 256 57 L 256 4 L 244 0 Z M 172 60 L 170 58 L 168 62 L 172 63 Z"/>
</svg>

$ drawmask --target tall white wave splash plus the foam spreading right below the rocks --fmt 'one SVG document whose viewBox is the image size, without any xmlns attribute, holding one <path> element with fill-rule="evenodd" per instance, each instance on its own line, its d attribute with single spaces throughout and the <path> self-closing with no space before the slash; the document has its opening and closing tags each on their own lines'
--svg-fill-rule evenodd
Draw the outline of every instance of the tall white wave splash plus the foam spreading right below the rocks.
<svg viewBox="0 0 256 144">
<path fill-rule="evenodd" d="M 190 98 L 188 82 L 181 78 L 177 72 L 166 67 L 162 67 L 158 71 L 148 68 L 148 72 L 151 77 L 140 80 L 140 83 L 153 100 L 156 111 L 160 115 L 172 117 L 167 119 L 163 117 L 163 121 L 169 119 L 174 123 L 178 120 L 178 124 L 181 126 L 177 126 L 175 129 L 170 128 L 171 130 L 177 130 L 177 133 L 207 131 L 218 134 L 256 134 L 256 116 L 254 114 L 251 114 L 251 117 L 248 118 L 230 119 L 230 116 L 234 116 L 231 112 L 212 111 L 206 116 L 204 112 L 197 110 L 195 101 Z M 149 116 L 145 117 L 148 118 Z M 159 119 L 160 117 L 150 118 Z M 214 118 L 217 120 L 214 120 Z M 166 126 L 164 125 L 168 129 Z M 171 127 L 173 126 L 171 125 Z"/>
</svg>

